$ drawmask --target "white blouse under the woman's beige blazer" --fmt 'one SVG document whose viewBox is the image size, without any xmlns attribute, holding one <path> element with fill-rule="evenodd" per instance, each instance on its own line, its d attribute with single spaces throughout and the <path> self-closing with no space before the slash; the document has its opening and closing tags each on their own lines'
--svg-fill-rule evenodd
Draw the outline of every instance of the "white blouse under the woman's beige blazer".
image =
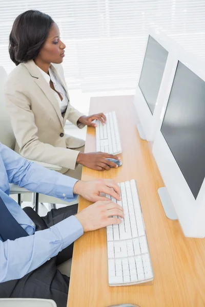
<svg viewBox="0 0 205 307">
<path fill-rule="evenodd" d="M 63 98 L 63 100 L 61 100 L 60 97 L 58 96 L 58 94 L 55 91 L 53 91 L 53 89 L 51 89 L 54 92 L 54 95 L 55 95 L 55 97 L 56 97 L 56 99 L 58 101 L 61 113 L 64 113 L 66 111 L 67 106 L 68 106 L 68 96 L 67 96 L 66 90 L 64 89 L 64 86 L 61 84 L 58 76 L 52 71 L 51 68 L 49 68 L 49 70 L 48 70 L 49 71 L 49 75 L 47 73 L 45 73 L 39 67 L 38 67 L 38 69 L 42 73 L 42 76 L 44 77 L 46 82 L 49 84 L 49 86 L 50 86 L 50 80 L 53 82 L 54 89 Z"/>
</svg>

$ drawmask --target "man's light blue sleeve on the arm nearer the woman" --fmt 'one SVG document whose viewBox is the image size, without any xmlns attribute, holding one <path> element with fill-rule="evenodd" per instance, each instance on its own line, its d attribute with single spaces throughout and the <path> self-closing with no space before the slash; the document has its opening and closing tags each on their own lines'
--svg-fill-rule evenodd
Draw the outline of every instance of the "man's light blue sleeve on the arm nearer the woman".
<svg viewBox="0 0 205 307">
<path fill-rule="evenodd" d="M 77 179 L 30 162 L 1 143 L 0 155 L 9 183 L 68 202 L 77 198 L 77 195 L 73 194 L 73 187 Z"/>
</svg>

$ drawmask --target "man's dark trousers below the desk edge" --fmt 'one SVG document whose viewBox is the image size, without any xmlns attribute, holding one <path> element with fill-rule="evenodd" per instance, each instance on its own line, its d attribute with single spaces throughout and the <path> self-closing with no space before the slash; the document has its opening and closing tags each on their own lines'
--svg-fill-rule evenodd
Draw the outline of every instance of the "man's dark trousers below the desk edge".
<svg viewBox="0 0 205 307">
<path fill-rule="evenodd" d="M 44 217 L 40 217 L 30 207 L 26 207 L 24 211 L 35 223 L 36 231 L 38 231 L 47 229 L 63 221 L 65 218 L 76 214 L 77 205 L 52 209 Z M 72 254 L 73 244 L 24 277 L 0 283 L 0 297 L 53 299 L 57 307 L 66 307 L 70 278 L 61 274 L 56 267 L 70 259 Z"/>
</svg>

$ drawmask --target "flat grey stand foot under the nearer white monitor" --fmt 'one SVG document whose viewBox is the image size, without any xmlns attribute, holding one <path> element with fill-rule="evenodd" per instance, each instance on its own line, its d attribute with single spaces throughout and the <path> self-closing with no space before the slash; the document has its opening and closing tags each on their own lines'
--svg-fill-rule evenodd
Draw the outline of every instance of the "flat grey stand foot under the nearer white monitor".
<svg viewBox="0 0 205 307">
<path fill-rule="evenodd" d="M 167 217 L 172 221 L 178 220 L 176 211 L 172 204 L 167 188 L 166 187 L 159 188 L 158 194 L 159 194 L 161 204 L 163 206 L 163 210 L 165 211 L 165 214 L 167 215 Z"/>
</svg>

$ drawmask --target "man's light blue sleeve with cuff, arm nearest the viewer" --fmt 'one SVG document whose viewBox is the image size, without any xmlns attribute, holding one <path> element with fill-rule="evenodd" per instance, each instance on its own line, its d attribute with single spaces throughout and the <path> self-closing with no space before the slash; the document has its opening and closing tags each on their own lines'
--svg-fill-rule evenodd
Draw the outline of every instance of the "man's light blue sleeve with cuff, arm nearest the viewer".
<svg viewBox="0 0 205 307">
<path fill-rule="evenodd" d="M 19 279 L 42 266 L 61 250 L 83 235 L 83 227 L 75 216 L 46 230 L 18 238 L 0 240 L 0 282 Z"/>
</svg>

